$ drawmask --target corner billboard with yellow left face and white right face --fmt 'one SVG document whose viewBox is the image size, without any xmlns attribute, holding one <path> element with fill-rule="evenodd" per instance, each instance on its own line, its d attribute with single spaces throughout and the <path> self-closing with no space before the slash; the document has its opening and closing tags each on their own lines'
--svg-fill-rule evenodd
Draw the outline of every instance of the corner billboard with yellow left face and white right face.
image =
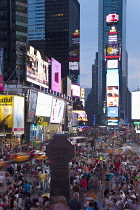
<svg viewBox="0 0 140 210">
<path fill-rule="evenodd" d="M 0 132 L 24 134 L 24 97 L 0 95 Z"/>
</svg>

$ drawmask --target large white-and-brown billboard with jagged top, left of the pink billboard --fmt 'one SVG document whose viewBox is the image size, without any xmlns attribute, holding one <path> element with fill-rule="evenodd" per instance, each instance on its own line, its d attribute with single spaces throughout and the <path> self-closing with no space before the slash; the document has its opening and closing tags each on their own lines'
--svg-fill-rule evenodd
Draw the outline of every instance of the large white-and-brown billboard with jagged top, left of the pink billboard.
<svg viewBox="0 0 140 210">
<path fill-rule="evenodd" d="M 26 80 L 33 84 L 49 87 L 48 62 L 43 60 L 39 51 L 29 46 L 27 50 Z"/>
</svg>

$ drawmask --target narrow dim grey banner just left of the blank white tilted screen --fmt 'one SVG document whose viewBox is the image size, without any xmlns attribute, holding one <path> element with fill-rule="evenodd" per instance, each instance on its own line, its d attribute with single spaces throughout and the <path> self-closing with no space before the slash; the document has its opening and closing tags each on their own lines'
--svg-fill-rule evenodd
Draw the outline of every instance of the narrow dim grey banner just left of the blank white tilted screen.
<svg viewBox="0 0 140 210">
<path fill-rule="evenodd" d="M 37 95 L 38 95 L 37 92 L 30 90 L 27 122 L 34 122 L 35 112 L 36 112 L 36 104 L 37 104 Z"/>
</svg>

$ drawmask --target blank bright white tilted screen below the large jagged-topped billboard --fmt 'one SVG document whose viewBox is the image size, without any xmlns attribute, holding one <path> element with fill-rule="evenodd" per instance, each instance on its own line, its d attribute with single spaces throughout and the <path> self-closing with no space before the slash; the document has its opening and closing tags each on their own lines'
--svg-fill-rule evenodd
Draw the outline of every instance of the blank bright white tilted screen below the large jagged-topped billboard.
<svg viewBox="0 0 140 210">
<path fill-rule="evenodd" d="M 36 116 L 50 117 L 53 97 L 45 93 L 38 92 Z"/>
</svg>

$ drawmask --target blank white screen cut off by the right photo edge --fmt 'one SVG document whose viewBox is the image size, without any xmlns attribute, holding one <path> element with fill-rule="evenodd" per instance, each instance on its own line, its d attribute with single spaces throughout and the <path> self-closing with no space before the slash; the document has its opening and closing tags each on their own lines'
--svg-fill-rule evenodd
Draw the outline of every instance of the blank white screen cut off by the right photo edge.
<svg viewBox="0 0 140 210">
<path fill-rule="evenodd" d="M 140 120 L 140 91 L 132 92 L 132 120 Z"/>
</svg>

